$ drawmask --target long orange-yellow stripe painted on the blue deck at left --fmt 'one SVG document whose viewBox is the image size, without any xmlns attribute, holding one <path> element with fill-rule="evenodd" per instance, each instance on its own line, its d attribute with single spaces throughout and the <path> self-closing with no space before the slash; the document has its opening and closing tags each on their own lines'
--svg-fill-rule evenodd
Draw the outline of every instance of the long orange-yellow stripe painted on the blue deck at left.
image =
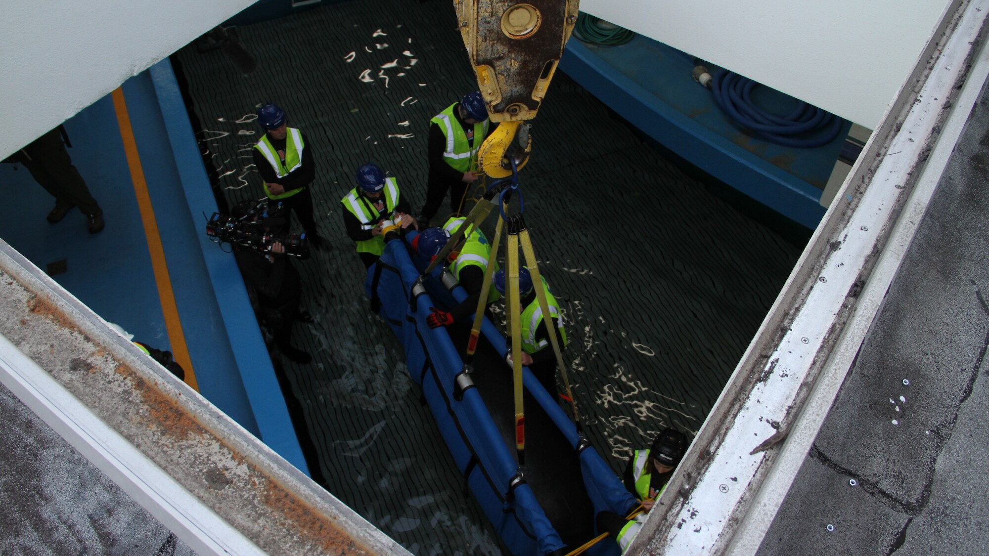
<svg viewBox="0 0 989 556">
<path fill-rule="evenodd" d="M 175 304 L 175 293 L 172 291 L 172 280 L 168 275 L 168 264 L 165 262 L 165 250 L 161 246 L 161 236 L 158 234 L 158 221 L 151 209 L 151 196 L 147 193 L 147 182 L 144 181 L 144 169 L 140 165 L 137 154 L 137 143 L 134 139 L 134 129 L 131 127 L 131 115 L 124 102 L 124 90 L 118 88 L 113 92 L 114 108 L 117 110 L 117 122 L 121 128 L 121 139 L 124 139 L 124 152 L 127 163 L 131 168 L 131 179 L 134 181 L 134 192 L 137 197 L 137 207 L 140 210 L 140 220 L 144 225 L 144 235 L 147 237 L 147 250 L 151 253 L 151 267 L 154 269 L 154 281 L 158 286 L 158 297 L 161 299 L 161 312 L 165 316 L 165 330 L 172 347 L 172 356 L 185 370 L 186 384 L 199 391 L 196 382 L 196 372 L 189 358 L 189 347 L 185 342 L 185 333 L 179 321 L 179 310 Z"/>
</svg>

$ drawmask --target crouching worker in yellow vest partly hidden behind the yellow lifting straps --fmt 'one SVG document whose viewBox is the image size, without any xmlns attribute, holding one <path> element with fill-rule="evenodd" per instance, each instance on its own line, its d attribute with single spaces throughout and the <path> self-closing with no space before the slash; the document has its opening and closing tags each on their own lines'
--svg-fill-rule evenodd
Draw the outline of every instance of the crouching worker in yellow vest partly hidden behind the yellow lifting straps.
<svg viewBox="0 0 989 556">
<path fill-rule="evenodd" d="M 563 312 L 560 311 L 560 302 L 550 293 L 549 284 L 546 278 L 540 276 L 543 282 L 543 290 L 546 292 L 546 305 L 549 306 L 552 329 L 557 334 L 557 341 L 560 349 L 567 346 L 567 331 L 563 326 Z M 522 332 L 522 364 L 529 367 L 532 374 L 539 379 L 539 383 L 546 389 L 555 400 L 559 394 L 556 383 L 556 353 L 553 352 L 553 345 L 550 344 L 550 337 L 547 325 L 544 322 L 542 308 L 539 307 L 539 300 L 536 299 L 535 288 L 532 287 L 532 275 L 529 269 L 521 267 L 518 269 L 518 295 L 521 298 L 521 315 L 519 316 L 519 327 Z M 494 273 L 494 287 L 504 295 L 505 275 L 504 269 Z M 511 365 L 511 355 L 506 362 Z"/>
</svg>

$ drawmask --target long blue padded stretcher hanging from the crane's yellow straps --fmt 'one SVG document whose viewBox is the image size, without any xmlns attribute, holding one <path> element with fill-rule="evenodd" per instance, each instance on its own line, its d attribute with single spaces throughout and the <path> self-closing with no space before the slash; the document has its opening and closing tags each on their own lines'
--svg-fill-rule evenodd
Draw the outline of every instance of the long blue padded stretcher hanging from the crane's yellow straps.
<svg viewBox="0 0 989 556">
<path fill-rule="evenodd" d="M 461 375 L 471 323 L 430 328 L 425 321 L 431 308 L 449 308 L 467 294 L 449 275 L 451 287 L 445 287 L 440 269 L 416 288 L 424 266 L 405 241 L 389 241 L 368 269 L 365 286 L 372 307 L 405 344 L 408 372 L 421 387 L 466 486 L 505 546 L 512 554 L 570 552 L 597 535 L 598 511 L 625 515 L 637 502 L 528 369 L 523 370 L 524 480 L 516 480 L 514 398 L 504 337 L 486 317 L 472 372 Z M 619 550 L 605 538 L 585 553 L 617 555 Z"/>
</svg>

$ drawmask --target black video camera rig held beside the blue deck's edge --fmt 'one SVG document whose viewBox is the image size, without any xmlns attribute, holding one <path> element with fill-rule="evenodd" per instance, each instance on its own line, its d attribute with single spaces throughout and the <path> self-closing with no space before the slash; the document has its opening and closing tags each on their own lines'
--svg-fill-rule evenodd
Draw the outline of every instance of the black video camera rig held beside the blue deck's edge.
<svg viewBox="0 0 989 556">
<path fill-rule="evenodd" d="M 206 234 L 215 243 L 231 243 L 252 251 L 268 253 L 273 243 L 281 243 L 285 254 L 309 258 L 309 239 L 305 233 L 278 233 L 285 221 L 278 218 L 282 204 L 268 207 L 267 200 L 244 201 L 233 207 L 232 215 L 213 213 L 206 223 Z"/>
</svg>

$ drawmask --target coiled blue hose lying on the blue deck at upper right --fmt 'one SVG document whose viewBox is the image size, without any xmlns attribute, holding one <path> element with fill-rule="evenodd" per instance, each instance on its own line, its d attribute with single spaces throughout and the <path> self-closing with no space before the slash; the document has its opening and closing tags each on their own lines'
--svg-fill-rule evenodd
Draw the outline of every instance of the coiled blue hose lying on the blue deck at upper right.
<svg viewBox="0 0 989 556">
<path fill-rule="evenodd" d="M 842 119 L 816 106 L 798 101 L 788 115 L 779 117 L 756 106 L 752 91 L 760 83 L 731 71 L 714 76 L 714 100 L 729 118 L 756 136 L 795 148 L 813 148 L 834 140 Z"/>
</svg>

